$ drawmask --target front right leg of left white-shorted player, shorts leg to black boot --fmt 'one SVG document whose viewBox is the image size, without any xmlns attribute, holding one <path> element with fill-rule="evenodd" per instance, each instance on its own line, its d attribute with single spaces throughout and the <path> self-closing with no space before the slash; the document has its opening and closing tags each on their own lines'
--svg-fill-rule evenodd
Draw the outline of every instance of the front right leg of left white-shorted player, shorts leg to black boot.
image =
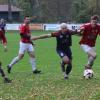
<svg viewBox="0 0 100 100">
<path fill-rule="evenodd" d="M 34 74 L 41 73 L 41 71 L 37 70 L 37 68 L 36 68 L 35 52 L 34 52 L 34 48 L 31 44 L 28 47 L 28 54 L 30 56 L 30 63 L 31 63 L 31 66 L 32 66 L 33 73 Z"/>
</svg>

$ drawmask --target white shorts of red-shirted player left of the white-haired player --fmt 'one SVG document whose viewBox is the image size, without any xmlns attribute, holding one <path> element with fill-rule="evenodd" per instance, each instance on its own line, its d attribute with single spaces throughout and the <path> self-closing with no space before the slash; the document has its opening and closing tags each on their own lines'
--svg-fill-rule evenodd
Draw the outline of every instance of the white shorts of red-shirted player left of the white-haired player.
<svg viewBox="0 0 100 100">
<path fill-rule="evenodd" d="M 27 52 L 34 51 L 32 44 L 20 42 L 19 54 L 24 54 L 26 51 Z"/>
</svg>

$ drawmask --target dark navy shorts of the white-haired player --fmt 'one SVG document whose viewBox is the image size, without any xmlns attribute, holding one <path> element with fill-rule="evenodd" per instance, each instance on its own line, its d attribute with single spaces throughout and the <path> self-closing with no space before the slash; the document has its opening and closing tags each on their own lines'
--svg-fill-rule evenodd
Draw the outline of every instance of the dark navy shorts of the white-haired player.
<svg viewBox="0 0 100 100">
<path fill-rule="evenodd" d="M 71 51 L 70 47 L 68 47 L 64 50 L 63 49 L 56 49 L 56 51 L 61 58 L 63 58 L 64 56 L 67 56 L 69 59 L 72 59 L 72 51 Z"/>
</svg>

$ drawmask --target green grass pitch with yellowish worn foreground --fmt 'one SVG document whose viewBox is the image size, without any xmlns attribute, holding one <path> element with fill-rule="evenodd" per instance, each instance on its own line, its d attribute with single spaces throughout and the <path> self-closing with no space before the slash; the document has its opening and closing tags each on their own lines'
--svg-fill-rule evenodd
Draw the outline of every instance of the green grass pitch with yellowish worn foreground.
<svg viewBox="0 0 100 100">
<path fill-rule="evenodd" d="M 48 32 L 33 31 L 33 35 L 43 33 Z M 9 32 L 6 36 L 8 52 L 4 53 L 0 45 L 0 60 L 7 74 L 6 65 L 17 56 L 20 37 L 17 32 Z M 7 74 L 13 79 L 11 84 L 4 84 L 0 77 L 0 100 L 100 100 L 100 37 L 96 44 L 98 57 L 93 67 L 95 76 L 91 80 L 82 78 L 87 56 L 80 49 L 79 40 L 73 36 L 73 69 L 69 80 L 63 79 L 55 38 L 35 41 L 37 67 L 42 74 L 32 74 L 26 53 L 24 59 L 14 65 L 11 74 Z"/>
</svg>

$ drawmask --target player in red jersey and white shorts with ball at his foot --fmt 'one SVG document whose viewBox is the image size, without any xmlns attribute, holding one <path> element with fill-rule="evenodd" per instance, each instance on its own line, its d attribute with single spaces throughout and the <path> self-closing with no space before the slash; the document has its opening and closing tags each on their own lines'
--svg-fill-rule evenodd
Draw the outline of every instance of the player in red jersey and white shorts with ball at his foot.
<svg viewBox="0 0 100 100">
<path fill-rule="evenodd" d="M 96 59 L 95 43 L 97 36 L 100 35 L 100 25 L 97 23 L 99 17 L 94 15 L 91 17 L 90 23 L 84 24 L 80 27 L 82 38 L 80 46 L 88 55 L 88 62 L 85 69 L 92 69 L 94 60 Z"/>
</svg>

